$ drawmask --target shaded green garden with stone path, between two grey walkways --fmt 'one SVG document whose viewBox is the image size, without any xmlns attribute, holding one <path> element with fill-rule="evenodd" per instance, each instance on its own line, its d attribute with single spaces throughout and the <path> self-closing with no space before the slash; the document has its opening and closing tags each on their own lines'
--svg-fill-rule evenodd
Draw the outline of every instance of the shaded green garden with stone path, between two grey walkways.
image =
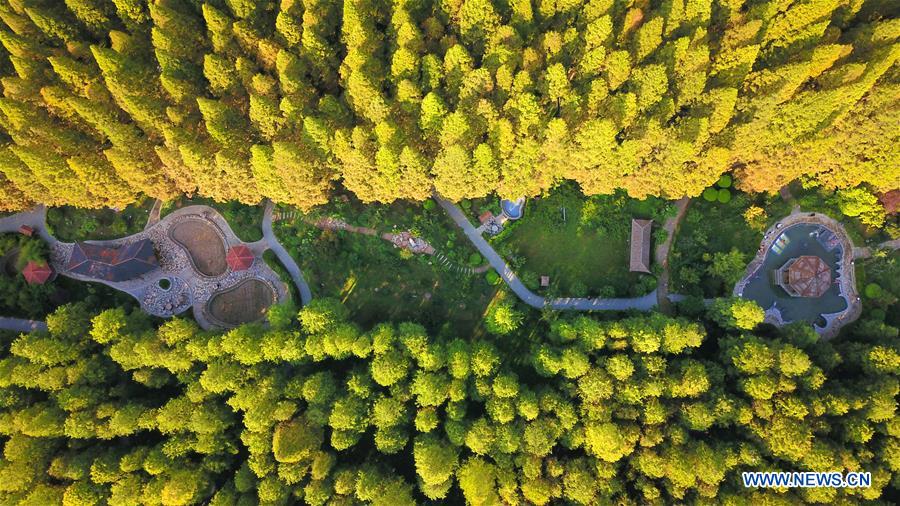
<svg viewBox="0 0 900 506">
<path fill-rule="evenodd" d="M 445 328 L 469 335 L 500 286 L 488 283 L 490 272 L 467 269 L 480 265 L 480 255 L 432 204 L 363 205 L 344 198 L 308 214 L 280 208 L 276 216 L 282 219 L 275 222 L 275 233 L 297 261 L 313 296 L 341 299 L 351 318 L 364 327 L 390 318 L 416 321 L 436 332 Z M 428 241 L 447 263 L 436 255 L 395 248 L 378 236 L 321 230 L 311 224 L 324 217 L 379 234 L 408 230 Z"/>
</svg>

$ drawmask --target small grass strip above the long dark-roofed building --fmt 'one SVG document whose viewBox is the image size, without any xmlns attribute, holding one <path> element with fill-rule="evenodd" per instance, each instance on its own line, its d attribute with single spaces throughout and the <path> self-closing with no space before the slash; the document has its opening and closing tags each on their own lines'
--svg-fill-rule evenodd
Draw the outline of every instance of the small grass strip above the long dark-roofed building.
<svg viewBox="0 0 900 506">
<path fill-rule="evenodd" d="M 144 198 L 121 211 L 53 207 L 47 210 L 47 225 L 64 242 L 118 239 L 144 229 L 153 199 Z"/>
</svg>

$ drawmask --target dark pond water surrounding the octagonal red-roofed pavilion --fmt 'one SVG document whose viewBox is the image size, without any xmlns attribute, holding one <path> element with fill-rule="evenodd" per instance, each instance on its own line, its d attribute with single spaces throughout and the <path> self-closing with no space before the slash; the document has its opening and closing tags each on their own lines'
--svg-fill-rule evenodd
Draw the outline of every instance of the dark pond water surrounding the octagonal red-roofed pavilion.
<svg viewBox="0 0 900 506">
<path fill-rule="evenodd" d="M 817 256 L 831 269 L 831 286 L 821 297 L 792 297 L 775 282 L 775 271 L 789 260 L 803 256 Z M 756 301 L 763 309 L 773 305 L 780 310 L 785 323 L 805 321 L 824 325 L 821 315 L 837 313 L 847 308 L 840 294 L 840 259 L 843 250 L 834 234 L 821 225 L 800 223 L 786 228 L 766 252 L 762 266 L 751 274 L 741 296 Z"/>
</svg>

